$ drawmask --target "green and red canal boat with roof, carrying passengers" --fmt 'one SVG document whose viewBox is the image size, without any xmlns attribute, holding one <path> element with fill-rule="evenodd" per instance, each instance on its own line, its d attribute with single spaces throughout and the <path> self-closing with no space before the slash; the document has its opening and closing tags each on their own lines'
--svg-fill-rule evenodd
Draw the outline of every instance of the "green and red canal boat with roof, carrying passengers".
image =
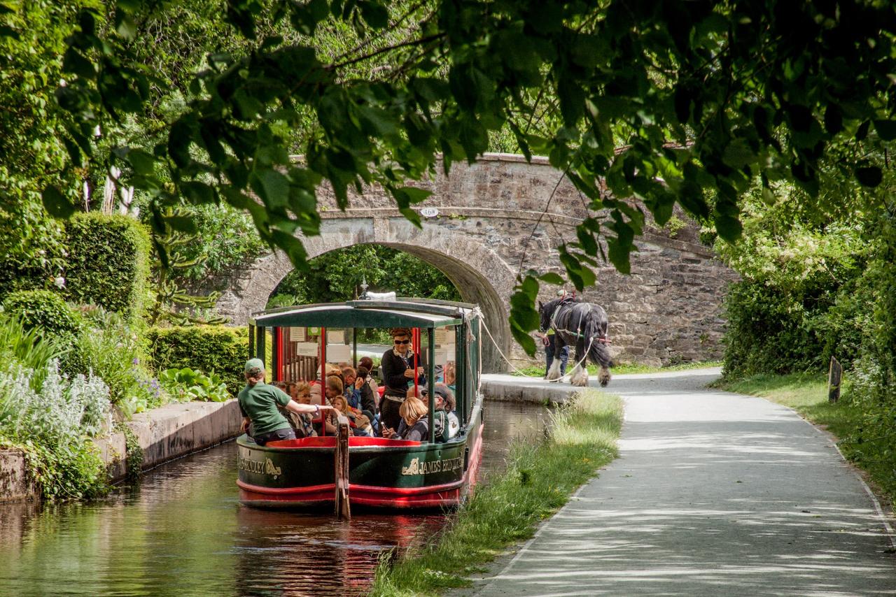
<svg viewBox="0 0 896 597">
<path fill-rule="evenodd" d="M 455 371 L 457 435 L 435 441 L 348 438 L 348 499 L 352 507 L 438 508 L 459 505 L 476 482 L 482 451 L 481 311 L 470 303 L 418 298 L 308 304 L 256 312 L 249 319 L 249 354 L 270 367 L 272 380 L 318 380 L 312 404 L 325 404 L 328 362 L 358 363 L 362 328 L 410 328 L 426 379 Z M 412 381 L 417 384 L 418 380 Z M 428 393 L 433 421 L 435 393 Z M 323 428 L 323 425 L 321 425 Z M 337 498 L 337 438 L 237 439 L 239 499 L 253 507 L 328 507 Z M 344 471 L 344 467 L 342 469 Z M 337 508 L 339 505 L 337 504 Z"/>
</svg>

